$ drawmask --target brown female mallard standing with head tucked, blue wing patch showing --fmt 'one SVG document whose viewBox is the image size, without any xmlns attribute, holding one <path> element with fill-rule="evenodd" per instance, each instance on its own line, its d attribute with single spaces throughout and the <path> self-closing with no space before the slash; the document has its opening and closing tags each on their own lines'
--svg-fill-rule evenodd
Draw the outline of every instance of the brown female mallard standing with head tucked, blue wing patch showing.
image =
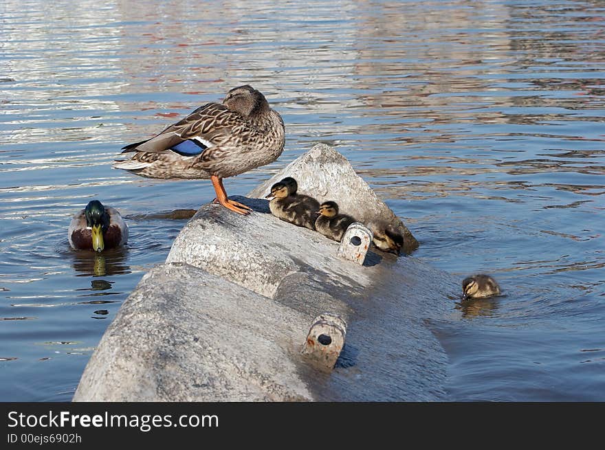
<svg viewBox="0 0 605 450">
<path fill-rule="evenodd" d="M 231 89 L 223 104 L 205 104 L 159 135 L 124 146 L 122 153 L 135 154 L 113 167 L 147 178 L 209 178 L 221 205 L 249 214 L 250 207 L 227 198 L 223 178 L 275 161 L 284 143 L 281 116 L 245 85 Z"/>
</svg>

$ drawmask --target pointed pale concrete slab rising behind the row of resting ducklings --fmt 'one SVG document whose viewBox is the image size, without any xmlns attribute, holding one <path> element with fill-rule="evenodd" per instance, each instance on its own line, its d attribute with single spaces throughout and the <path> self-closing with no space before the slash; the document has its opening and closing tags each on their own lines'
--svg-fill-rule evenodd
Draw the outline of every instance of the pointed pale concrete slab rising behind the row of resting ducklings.
<svg viewBox="0 0 605 450">
<path fill-rule="evenodd" d="M 274 177 L 248 192 L 248 196 L 264 198 L 271 192 L 271 186 L 284 177 L 296 179 L 298 192 L 314 197 L 319 203 L 336 201 L 340 212 L 353 216 L 358 222 L 383 221 L 392 224 L 404 236 L 406 253 L 418 247 L 418 241 L 401 219 L 355 173 L 347 158 L 330 146 L 317 144 Z"/>
</svg>

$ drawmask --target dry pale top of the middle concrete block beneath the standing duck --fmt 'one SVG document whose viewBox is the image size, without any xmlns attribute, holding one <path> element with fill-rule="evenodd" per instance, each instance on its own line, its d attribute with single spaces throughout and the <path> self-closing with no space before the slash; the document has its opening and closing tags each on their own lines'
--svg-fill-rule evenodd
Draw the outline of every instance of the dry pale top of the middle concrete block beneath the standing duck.
<svg viewBox="0 0 605 450">
<path fill-rule="evenodd" d="M 224 214 L 224 207 L 204 205 L 175 238 L 166 262 L 186 262 L 221 275 L 251 291 L 274 297 L 283 278 L 314 269 L 334 283 L 367 286 L 371 274 L 335 259 L 338 243 L 272 216 L 265 199 L 232 199 L 252 207 L 249 216 Z"/>
</svg>

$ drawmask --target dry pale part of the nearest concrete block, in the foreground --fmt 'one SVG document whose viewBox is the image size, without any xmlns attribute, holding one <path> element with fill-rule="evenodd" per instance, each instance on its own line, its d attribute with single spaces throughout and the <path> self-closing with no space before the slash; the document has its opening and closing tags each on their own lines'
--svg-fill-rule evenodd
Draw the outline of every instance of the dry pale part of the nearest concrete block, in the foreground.
<svg viewBox="0 0 605 450">
<path fill-rule="evenodd" d="M 292 362 L 305 322 L 201 269 L 159 265 L 107 328 L 74 401 L 311 400 Z"/>
</svg>

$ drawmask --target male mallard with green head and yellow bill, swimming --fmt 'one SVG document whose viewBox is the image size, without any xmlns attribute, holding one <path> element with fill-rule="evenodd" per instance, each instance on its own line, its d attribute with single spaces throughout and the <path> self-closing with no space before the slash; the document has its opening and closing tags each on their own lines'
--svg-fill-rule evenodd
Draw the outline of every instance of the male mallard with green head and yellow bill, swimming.
<svg viewBox="0 0 605 450">
<path fill-rule="evenodd" d="M 74 249 L 102 251 L 124 245 L 128 225 L 118 210 L 93 200 L 72 218 L 67 238 Z"/>
</svg>

